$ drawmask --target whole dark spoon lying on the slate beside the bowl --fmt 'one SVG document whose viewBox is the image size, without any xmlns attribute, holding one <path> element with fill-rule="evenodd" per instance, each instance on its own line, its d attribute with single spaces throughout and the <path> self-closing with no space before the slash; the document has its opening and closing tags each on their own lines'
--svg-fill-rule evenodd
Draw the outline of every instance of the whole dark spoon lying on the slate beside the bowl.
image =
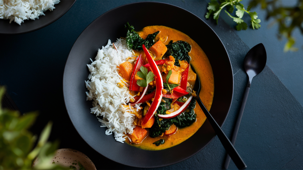
<svg viewBox="0 0 303 170">
<path fill-rule="evenodd" d="M 234 132 L 232 134 L 231 137 L 231 143 L 233 145 L 235 145 L 236 142 L 236 138 L 237 138 L 237 134 L 238 134 L 238 130 L 239 130 L 239 126 L 240 126 L 240 122 L 242 119 L 242 115 L 243 115 L 243 111 L 245 108 L 245 104 L 246 104 L 246 100 L 247 100 L 247 96 L 248 96 L 248 92 L 250 89 L 250 84 L 251 84 L 251 80 L 252 78 L 254 78 L 256 75 L 258 75 L 259 73 L 261 73 L 261 71 L 264 69 L 266 64 L 266 51 L 265 51 L 265 47 L 262 43 L 255 45 L 255 47 L 252 47 L 248 53 L 245 56 L 244 59 L 244 68 L 245 71 L 248 75 L 248 83 L 244 92 L 244 96 L 242 99 L 242 105 L 239 111 L 239 115 L 238 115 L 238 119 L 235 125 L 235 129 Z M 225 159 L 225 163 L 224 163 L 224 167 L 225 169 L 228 168 L 230 162 L 230 157 L 229 155 L 227 155 L 226 159 Z"/>
</svg>

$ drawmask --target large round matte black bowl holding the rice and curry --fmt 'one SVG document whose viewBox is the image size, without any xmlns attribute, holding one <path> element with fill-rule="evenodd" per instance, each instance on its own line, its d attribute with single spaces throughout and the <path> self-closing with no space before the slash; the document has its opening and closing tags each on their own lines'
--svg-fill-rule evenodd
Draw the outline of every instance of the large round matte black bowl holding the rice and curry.
<svg viewBox="0 0 303 170">
<path fill-rule="evenodd" d="M 165 10 L 155 12 L 156 9 Z M 147 14 L 153 14 L 153 17 Z M 196 23 L 195 27 L 182 23 L 180 18 L 187 18 L 188 23 Z M 165 150 L 146 151 L 116 142 L 113 135 L 106 136 L 105 128 L 100 128 L 101 123 L 90 113 L 92 102 L 86 101 L 84 82 L 89 74 L 86 64 L 91 63 L 89 58 L 94 59 L 98 48 L 105 46 L 108 39 L 115 41 L 120 36 L 125 37 L 124 24 L 127 21 L 136 30 L 149 25 L 175 28 L 200 45 L 208 56 L 215 78 L 215 96 L 210 113 L 220 126 L 224 123 L 233 96 L 233 73 L 224 45 L 217 34 L 196 15 L 160 2 L 137 2 L 114 8 L 95 19 L 80 34 L 68 55 L 64 70 L 63 93 L 68 115 L 88 145 L 113 161 L 141 168 L 181 162 L 201 151 L 215 137 L 208 120 L 185 142 Z"/>
</svg>

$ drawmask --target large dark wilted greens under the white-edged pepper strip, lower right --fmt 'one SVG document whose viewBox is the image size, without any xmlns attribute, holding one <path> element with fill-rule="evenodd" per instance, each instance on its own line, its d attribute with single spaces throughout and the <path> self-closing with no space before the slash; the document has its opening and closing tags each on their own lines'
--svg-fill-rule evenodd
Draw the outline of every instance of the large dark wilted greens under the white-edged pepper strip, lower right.
<svg viewBox="0 0 303 170">
<path fill-rule="evenodd" d="M 159 120 L 158 114 L 165 115 L 166 111 L 171 109 L 171 99 L 162 98 L 165 102 L 161 102 L 157 112 L 155 113 L 155 118 L 157 121 L 155 121 L 154 125 L 149 128 L 149 136 L 152 138 L 155 138 L 157 136 L 160 136 L 162 133 L 164 133 L 166 130 L 170 128 L 170 126 L 174 123 L 178 128 L 183 128 L 186 126 L 190 126 L 192 123 L 196 120 L 196 114 L 194 111 L 194 108 L 196 106 L 196 100 L 192 99 L 189 103 L 188 109 L 182 112 L 180 115 L 170 118 L 170 119 L 162 119 Z M 188 112 L 187 112 L 188 111 Z"/>
</svg>

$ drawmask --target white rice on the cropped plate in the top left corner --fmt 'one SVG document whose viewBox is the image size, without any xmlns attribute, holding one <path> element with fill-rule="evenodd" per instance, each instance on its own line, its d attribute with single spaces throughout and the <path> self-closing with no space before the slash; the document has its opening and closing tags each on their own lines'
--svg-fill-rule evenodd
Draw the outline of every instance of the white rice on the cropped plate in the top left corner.
<svg viewBox="0 0 303 170">
<path fill-rule="evenodd" d="M 25 19 L 39 19 L 43 12 L 55 9 L 59 0 L 0 0 L 0 19 L 9 19 L 21 25 Z"/>
</svg>

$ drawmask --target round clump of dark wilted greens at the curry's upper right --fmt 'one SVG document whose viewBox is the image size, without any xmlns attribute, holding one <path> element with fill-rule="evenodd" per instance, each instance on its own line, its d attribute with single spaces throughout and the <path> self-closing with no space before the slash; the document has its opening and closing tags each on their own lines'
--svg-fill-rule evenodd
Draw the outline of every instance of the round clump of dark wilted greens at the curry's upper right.
<svg viewBox="0 0 303 170">
<path fill-rule="evenodd" d="M 188 63 L 191 60 L 191 57 L 188 55 L 188 52 L 191 51 L 191 46 L 185 41 L 170 41 L 167 47 L 167 54 L 175 58 L 176 66 L 180 66 L 178 60 L 186 60 Z"/>
</svg>

